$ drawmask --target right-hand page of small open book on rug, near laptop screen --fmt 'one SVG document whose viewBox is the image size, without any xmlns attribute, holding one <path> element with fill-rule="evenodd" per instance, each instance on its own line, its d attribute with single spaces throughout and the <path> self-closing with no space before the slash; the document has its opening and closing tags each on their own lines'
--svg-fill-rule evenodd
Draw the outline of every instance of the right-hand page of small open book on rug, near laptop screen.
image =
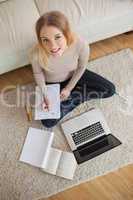
<svg viewBox="0 0 133 200">
<path fill-rule="evenodd" d="M 56 175 L 72 180 L 76 167 L 77 162 L 73 153 L 62 152 Z"/>
</svg>

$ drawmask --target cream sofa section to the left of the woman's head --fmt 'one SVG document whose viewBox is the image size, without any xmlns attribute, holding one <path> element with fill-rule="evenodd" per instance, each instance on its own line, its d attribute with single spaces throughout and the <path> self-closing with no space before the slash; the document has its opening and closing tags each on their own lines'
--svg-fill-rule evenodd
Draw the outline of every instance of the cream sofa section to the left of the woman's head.
<svg viewBox="0 0 133 200">
<path fill-rule="evenodd" d="M 0 74 L 28 63 L 27 49 L 36 41 L 38 18 L 33 0 L 0 4 Z"/>
</svg>

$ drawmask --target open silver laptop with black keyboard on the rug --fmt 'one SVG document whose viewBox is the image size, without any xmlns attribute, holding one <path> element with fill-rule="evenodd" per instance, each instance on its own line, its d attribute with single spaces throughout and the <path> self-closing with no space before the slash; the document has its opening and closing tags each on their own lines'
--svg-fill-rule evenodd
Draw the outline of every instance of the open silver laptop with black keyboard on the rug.
<svg viewBox="0 0 133 200">
<path fill-rule="evenodd" d="M 92 108 L 62 122 L 61 128 L 78 164 L 121 144 L 121 141 L 111 134 L 99 108 Z"/>
</svg>

